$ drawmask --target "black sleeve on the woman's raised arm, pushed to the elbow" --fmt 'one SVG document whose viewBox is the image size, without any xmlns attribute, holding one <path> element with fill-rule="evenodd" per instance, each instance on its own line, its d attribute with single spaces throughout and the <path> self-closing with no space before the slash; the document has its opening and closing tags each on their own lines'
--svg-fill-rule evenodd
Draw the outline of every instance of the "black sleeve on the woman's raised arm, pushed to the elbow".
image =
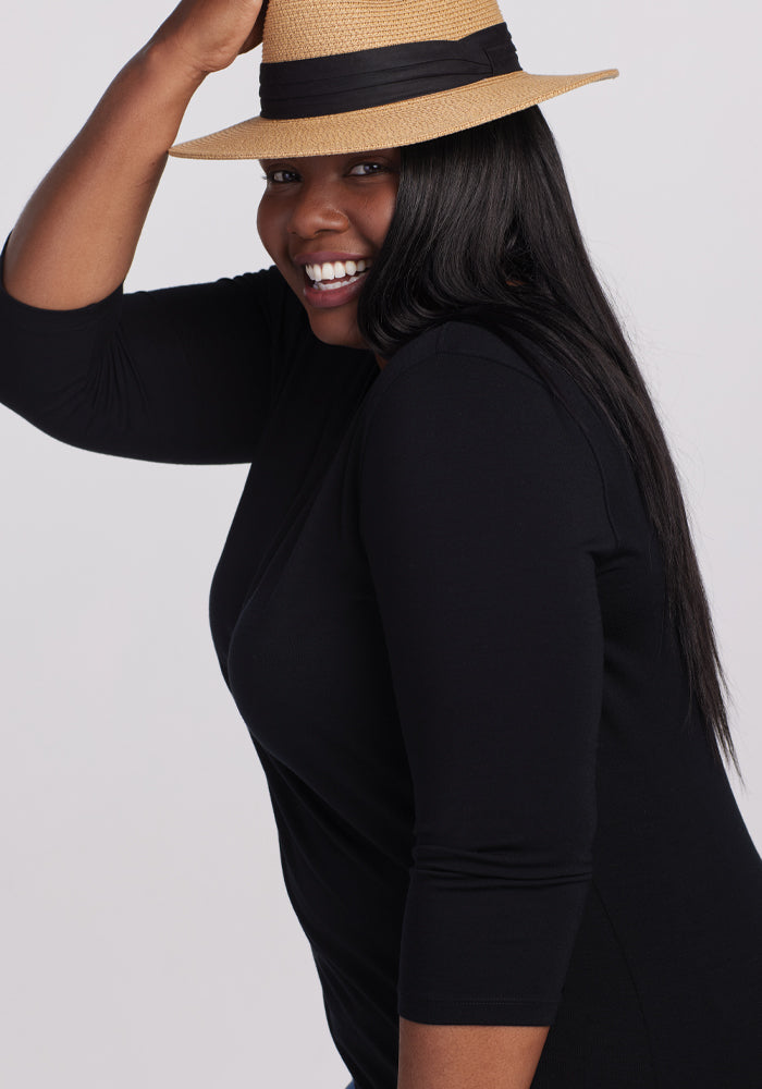
<svg viewBox="0 0 762 1089">
<path fill-rule="evenodd" d="M 251 461 L 285 287 L 273 267 L 50 310 L 8 293 L 0 403 L 74 446 L 145 461 Z M 286 289 L 287 290 L 287 289 Z"/>
</svg>

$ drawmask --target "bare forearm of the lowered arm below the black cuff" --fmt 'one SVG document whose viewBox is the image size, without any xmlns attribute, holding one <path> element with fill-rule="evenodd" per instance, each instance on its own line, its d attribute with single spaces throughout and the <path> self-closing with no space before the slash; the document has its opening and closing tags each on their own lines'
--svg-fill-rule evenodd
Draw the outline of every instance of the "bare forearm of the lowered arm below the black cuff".
<svg viewBox="0 0 762 1089">
<path fill-rule="evenodd" d="M 397 1089 L 529 1089 L 549 1027 L 400 1018 Z"/>
</svg>

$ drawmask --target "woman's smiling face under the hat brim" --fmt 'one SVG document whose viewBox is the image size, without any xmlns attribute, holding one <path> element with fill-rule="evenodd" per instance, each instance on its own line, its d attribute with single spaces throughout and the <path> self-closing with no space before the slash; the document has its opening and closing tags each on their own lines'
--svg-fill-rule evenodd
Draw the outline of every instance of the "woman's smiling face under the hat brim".
<svg viewBox="0 0 762 1089">
<path fill-rule="evenodd" d="M 260 159 L 259 164 L 267 178 L 257 213 L 259 237 L 307 310 L 312 332 L 327 344 L 367 347 L 357 328 L 365 274 L 358 265 L 372 262 L 386 236 L 400 184 L 400 149 Z"/>
</svg>

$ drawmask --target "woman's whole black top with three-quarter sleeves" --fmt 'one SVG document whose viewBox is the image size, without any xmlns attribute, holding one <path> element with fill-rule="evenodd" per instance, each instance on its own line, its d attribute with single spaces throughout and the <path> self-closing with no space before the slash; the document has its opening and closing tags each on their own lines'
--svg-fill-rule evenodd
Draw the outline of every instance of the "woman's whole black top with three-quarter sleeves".
<svg viewBox="0 0 762 1089">
<path fill-rule="evenodd" d="M 273 267 L 48 311 L 0 400 L 87 450 L 250 462 L 225 682 L 357 1089 L 398 1015 L 551 1025 L 536 1089 L 750 1089 L 762 860 L 705 743 L 628 457 L 458 321 L 379 370 Z"/>
</svg>

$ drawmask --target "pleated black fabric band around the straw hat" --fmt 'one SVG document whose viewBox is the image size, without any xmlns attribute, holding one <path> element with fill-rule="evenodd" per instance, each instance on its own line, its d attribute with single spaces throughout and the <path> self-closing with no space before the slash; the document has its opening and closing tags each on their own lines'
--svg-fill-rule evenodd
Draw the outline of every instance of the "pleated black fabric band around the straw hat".
<svg viewBox="0 0 762 1089">
<path fill-rule="evenodd" d="M 521 71 L 505 23 L 454 41 L 410 41 L 259 66 L 261 115 L 318 118 Z"/>
</svg>

